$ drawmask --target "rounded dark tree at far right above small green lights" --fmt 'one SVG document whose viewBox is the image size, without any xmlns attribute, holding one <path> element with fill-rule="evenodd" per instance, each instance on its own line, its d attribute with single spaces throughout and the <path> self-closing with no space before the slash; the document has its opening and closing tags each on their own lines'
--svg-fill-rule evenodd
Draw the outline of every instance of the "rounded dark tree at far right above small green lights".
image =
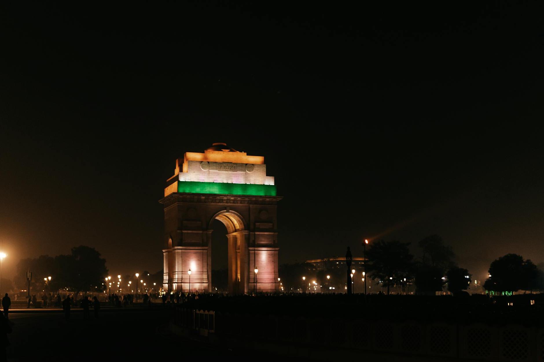
<svg viewBox="0 0 544 362">
<path fill-rule="evenodd" d="M 537 280 L 538 269 L 529 259 L 523 260 L 521 255 L 506 254 L 491 263 L 489 274 L 491 277 L 484 283 L 486 290 L 530 290 Z"/>
</svg>

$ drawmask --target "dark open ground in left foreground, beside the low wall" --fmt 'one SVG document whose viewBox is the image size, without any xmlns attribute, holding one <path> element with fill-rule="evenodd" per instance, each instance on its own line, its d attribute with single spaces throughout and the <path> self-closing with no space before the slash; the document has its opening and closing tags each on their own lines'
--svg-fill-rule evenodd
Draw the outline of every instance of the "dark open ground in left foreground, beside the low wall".
<svg viewBox="0 0 544 362">
<path fill-rule="evenodd" d="M 70 321 L 63 313 L 13 313 L 9 316 L 13 332 L 8 335 L 8 360 L 254 360 L 249 351 L 173 335 L 168 328 L 169 317 L 169 310 L 163 308 L 104 310 L 98 320 L 84 320 L 83 313 L 75 311 Z"/>
</svg>

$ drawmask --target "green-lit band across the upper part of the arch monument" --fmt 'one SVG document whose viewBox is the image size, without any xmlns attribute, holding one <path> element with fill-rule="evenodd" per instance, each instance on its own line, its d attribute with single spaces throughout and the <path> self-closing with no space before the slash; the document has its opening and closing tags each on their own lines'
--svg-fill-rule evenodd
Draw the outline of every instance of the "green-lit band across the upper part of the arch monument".
<svg viewBox="0 0 544 362">
<path fill-rule="evenodd" d="M 276 196 L 276 186 L 178 181 L 177 192 L 187 192 L 189 194 Z"/>
</svg>

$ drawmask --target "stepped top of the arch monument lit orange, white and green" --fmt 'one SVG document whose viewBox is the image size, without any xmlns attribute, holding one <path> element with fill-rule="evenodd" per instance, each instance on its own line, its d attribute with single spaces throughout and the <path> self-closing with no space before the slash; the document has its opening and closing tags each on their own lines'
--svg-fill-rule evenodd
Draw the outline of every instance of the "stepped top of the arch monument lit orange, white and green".
<svg viewBox="0 0 544 362">
<path fill-rule="evenodd" d="M 274 177 L 267 176 L 262 156 L 248 156 L 225 143 L 213 143 L 204 153 L 185 153 L 181 169 L 180 161 L 176 160 L 164 196 L 172 192 L 276 196 Z"/>
</svg>

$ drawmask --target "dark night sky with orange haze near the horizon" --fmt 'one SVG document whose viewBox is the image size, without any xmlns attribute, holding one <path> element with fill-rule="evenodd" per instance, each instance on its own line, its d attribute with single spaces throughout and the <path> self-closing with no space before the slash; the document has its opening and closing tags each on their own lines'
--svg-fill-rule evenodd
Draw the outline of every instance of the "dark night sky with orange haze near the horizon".
<svg viewBox="0 0 544 362">
<path fill-rule="evenodd" d="M 77 245 L 112 274 L 162 269 L 164 182 L 212 142 L 265 157 L 281 263 L 430 234 L 476 279 L 544 261 L 531 3 L 2 6 L 8 277 Z"/>
</svg>

